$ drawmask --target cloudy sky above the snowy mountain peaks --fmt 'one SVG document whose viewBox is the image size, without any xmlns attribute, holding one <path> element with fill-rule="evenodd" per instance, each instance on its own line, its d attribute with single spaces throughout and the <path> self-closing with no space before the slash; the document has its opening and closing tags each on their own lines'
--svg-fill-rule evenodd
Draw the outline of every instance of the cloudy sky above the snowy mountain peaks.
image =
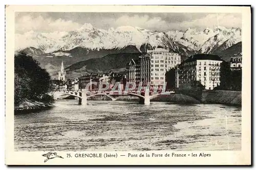
<svg viewBox="0 0 256 170">
<path fill-rule="evenodd" d="M 188 28 L 241 28 L 239 13 L 74 13 L 74 12 L 16 12 L 16 33 L 71 31 L 84 23 L 98 29 L 120 26 L 140 27 L 148 30 L 169 31 Z"/>
</svg>

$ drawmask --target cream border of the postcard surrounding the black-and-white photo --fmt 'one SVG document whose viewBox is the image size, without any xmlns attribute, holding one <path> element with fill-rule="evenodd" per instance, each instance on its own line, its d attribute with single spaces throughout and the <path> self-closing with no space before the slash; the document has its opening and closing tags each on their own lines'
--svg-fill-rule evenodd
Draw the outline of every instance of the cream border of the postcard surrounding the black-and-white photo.
<svg viewBox="0 0 256 170">
<path fill-rule="evenodd" d="M 57 152 L 64 159 L 44 163 L 45 152 L 14 151 L 14 12 L 205 12 L 242 13 L 242 149 L 241 151 L 202 151 L 210 157 L 139 157 L 127 158 L 128 153 L 191 154 L 202 152 L 146 151 L 146 152 Z M 251 163 L 251 13 L 250 7 L 228 6 L 6 6 L 6 151 L 8 165 L 240 165 Z M 51 151 L 52 152 L 52 151 Z M 112 153 L 117 158 L 75 158 L 75 153 Z M 72 154 L 72 158 L 67 158 Z"/>
</svg>

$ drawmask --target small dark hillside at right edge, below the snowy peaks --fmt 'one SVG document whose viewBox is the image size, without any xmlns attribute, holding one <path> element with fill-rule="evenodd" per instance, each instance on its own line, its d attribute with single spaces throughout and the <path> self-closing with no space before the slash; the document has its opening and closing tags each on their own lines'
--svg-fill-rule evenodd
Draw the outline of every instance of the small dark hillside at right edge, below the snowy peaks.
<svg viewBox="0 0 256 170">
<path fill-rule="evenodd" d="M 226 50 L 214 52 L 214 54 L 221 56 L 225 61 L 230 61 L 230 58 L 237 53 L 242 53 L 242 42 L 236 43 Z"/>
</svg>

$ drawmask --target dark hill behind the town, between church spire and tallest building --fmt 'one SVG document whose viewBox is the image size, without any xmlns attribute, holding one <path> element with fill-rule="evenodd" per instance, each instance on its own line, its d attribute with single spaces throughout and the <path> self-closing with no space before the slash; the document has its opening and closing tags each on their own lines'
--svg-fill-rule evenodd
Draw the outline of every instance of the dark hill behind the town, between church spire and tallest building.
<svg viewBox="0 0 256 170">
<path fill-rule="evenodd" d="M 80 77 L 81 74 L 91 72 L 103 73 L 105 71 L 113 71 L 124 73 L 126 63 L 131 59 L 138 59 L 141 53 L 119 53 L 109 54 L 102 58 L 89 59 L 80 61 L 66 68 L 67 77 L 69 79 Z"/>
</svg>

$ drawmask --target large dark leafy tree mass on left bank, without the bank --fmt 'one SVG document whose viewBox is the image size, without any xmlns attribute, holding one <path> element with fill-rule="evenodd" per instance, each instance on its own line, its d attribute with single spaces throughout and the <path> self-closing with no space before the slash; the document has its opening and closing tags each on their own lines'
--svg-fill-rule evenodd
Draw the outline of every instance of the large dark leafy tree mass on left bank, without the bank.
<svg viewBox="0 0 256 170">
<path fill-rule="evenodd" d="M 14 104 L 23 99 L 38 99 L 50 90 L 50 75 L 25 53 L 14 56 Z"/>
</svg>

